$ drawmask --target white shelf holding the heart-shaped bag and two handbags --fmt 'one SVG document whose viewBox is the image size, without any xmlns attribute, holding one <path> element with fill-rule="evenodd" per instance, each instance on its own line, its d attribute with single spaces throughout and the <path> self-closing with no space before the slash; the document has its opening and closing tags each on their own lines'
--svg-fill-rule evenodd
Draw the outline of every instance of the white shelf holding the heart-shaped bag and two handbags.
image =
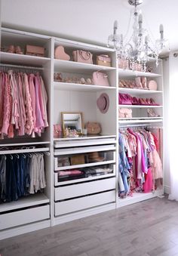
<svg viewBox="0 0 178 256">
<path fill-rule="evenodd" d="M 69 60 L 54 60 L 54 71 L 91 73 L 94 71 L 112 71 L 115 67 L 80 63 Z"/>
</svg>

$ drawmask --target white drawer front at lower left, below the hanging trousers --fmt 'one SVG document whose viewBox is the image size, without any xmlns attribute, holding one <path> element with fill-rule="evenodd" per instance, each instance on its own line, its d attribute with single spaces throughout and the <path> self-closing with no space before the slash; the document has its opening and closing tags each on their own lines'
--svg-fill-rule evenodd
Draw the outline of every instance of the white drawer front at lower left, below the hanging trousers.
<svg viewBox="0 0 178 256">
<path fill-rule="evenodd" d="M 0 230 L 16 227 L 23 224 L 29 224 L 35 221 L 42 221 L 50 217 L 50 206 L 43 205 L 35 208 L 29 208 L 22 211 L 14 211 L 0 215 Z"/>
</svg>

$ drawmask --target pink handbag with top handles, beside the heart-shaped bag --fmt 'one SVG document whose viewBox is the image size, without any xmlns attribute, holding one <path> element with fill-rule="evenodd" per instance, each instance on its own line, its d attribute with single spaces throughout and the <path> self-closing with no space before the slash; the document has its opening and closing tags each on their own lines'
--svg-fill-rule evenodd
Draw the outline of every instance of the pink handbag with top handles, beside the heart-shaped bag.
<svg viewBox="0 0 178 256">
<path fill-rule="evenodd" d="M 72 51 L 73 60 L 81 63 L 93 64 L 93 54 L 90 51 L 76 50 Z"/>
</svg>

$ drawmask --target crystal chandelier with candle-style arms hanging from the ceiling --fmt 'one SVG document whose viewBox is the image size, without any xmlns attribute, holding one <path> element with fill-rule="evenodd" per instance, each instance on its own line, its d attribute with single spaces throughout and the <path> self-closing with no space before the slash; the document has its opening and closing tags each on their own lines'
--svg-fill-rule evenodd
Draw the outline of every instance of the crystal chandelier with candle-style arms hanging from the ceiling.
<svg viewBox="0 0 178 256">
<path fill-rule="evenodd" d="M 155 42 L 152 42 L 148 30 L 143 28 L 143 15 L 137 8 L 143 3 L 143 0 L 128 0 L 128 3 L 134 6 L 132 35 L 127 42 L 124 42 L 123 35 L 117 34 L 118 22 L 115 20 L 114 32 L 109 35 L 108 46 L 115 48 L 118 60 L 127 60 L 132 69 L 136 63 L 140 63 L 143 66 L 143 71 L 146 71 L 146 62 L 150 57 L 155 58 L 156 65 L 158 65 L 158 56 L 167 47 L 168 42 L 164 39 L 162 24 L 159 27 L 160 39 Z"/>
</svg>

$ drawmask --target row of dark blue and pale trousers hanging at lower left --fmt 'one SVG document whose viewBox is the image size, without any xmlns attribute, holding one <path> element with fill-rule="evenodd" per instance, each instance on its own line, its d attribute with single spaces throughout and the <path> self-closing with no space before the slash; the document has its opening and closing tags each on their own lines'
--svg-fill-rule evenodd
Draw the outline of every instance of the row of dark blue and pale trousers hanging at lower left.
<svg viewBox="0 0 178 256">
<path fill-rule="evenodd" d="M 0 156 L 0 201 L 16 201 L 46 187 L 43 153 Z"/>
</svg>

